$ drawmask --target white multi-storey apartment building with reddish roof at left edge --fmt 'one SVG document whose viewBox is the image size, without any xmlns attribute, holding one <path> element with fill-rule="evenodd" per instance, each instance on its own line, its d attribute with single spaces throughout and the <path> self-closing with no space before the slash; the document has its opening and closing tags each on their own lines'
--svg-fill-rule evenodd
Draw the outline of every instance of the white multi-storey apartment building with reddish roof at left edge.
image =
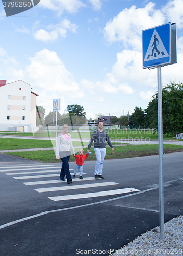
<svg viewBox="0 0 183 256">
<path fill-rule="evenodd" d="M 36 97 L 30 84 L 0 80 L 0 131 L 36 132 Z"/>
</svg>

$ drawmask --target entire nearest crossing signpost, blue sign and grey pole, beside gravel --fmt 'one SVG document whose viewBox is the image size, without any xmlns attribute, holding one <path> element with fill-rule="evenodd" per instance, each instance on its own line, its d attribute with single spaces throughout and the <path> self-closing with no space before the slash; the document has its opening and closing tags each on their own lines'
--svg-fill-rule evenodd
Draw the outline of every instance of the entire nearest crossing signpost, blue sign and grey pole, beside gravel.
<svg viewBox="0 0 183 256">
<path fill-rule="evenodd" d="M 142 31 L 143 69 L 157 68 L 158 77 L 158 141 L 159 141 L 159 207 L 160 239 L 164 239 L 163 198 L 163 122 L 161 67 L 177 63 L 176 24 L 166 23 Z"/>
</svg>

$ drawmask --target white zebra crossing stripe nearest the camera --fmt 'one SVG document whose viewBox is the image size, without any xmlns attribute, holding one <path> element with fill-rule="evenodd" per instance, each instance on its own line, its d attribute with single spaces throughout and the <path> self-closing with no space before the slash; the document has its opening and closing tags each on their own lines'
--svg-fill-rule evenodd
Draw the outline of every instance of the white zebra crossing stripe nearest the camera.
<svg viewBox="0 0 183 256">
<path fill-rule="evenodd" d="M 82 198 L 91 198 L 91 197 L 111 196 L 111 195 L 130 193 L 130 192 L 134 192 L 134 191 L 140 191 L 140 190 L 130 187 L 130 188 L 107 190 L 107 191 L 100 191 L 100 192 L 94 192 L 94 193 L 57 196 L 57 197 L 48 197 L 48 198 L 53 201 L 62 201 L 62 200 L 70 200 L 70 199 L 82 199 Z"/>
</svg>

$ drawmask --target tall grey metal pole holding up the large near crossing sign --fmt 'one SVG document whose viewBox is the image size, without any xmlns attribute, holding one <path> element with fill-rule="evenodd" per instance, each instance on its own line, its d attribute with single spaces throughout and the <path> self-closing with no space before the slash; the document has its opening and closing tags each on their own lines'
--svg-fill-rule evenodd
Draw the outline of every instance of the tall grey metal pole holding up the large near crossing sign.
<svg viewBox="0 0 183 256">
<path fill-rule="evenodd" d="M 162 122 L 162 73 L 157 68 L 158 76 L 158 141 L 159 141 L 159 207 L 160 239 L 164 239 L 164 199 L 163 199 L 163 122 Z"/>
</svg>

